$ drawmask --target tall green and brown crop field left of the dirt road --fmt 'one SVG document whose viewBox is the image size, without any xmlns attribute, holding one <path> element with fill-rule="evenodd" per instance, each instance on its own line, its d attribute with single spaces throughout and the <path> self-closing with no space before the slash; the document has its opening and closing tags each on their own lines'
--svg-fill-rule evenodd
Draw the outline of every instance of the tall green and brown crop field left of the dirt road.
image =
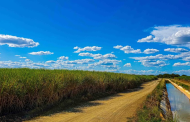
<svg viewBox="0 0 190 122">
<path fill-rule="evenodd" d="M 68 98 L 115 93 L 155 76 L 44 69 L 0 69 L 0 115 L 53 105 Z"/>
</svg>

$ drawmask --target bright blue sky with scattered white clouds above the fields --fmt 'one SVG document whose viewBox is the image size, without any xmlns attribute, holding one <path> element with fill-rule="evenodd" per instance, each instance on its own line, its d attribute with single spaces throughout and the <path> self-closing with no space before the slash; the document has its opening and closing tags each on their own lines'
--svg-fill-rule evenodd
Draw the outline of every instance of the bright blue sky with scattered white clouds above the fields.
<svg viewBox="0 0 190 122">
<path fill-rule="evenodd" d="M 2 0 L 0 67 L 190 75 L 188 0 Z"/>
</svg>

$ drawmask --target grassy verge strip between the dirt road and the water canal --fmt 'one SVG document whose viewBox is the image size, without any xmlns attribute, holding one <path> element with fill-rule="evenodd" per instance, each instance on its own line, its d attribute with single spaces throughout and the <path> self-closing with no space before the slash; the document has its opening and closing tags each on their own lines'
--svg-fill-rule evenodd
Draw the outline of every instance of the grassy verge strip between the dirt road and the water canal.
<svg viewBox="0 0 190 122">
<path fill-rule="evenodd" d="M 141 107 L 137 110 L 136 115 L 130 120 L 131 122 L 161 122 L 160 102 L 162 100 L 163 90 L 166 88 L 165 80 L 162 79 L 158 86 L 150 93 Z M 172 122 L 170 118 L 164 121 Z"/>
</svg>

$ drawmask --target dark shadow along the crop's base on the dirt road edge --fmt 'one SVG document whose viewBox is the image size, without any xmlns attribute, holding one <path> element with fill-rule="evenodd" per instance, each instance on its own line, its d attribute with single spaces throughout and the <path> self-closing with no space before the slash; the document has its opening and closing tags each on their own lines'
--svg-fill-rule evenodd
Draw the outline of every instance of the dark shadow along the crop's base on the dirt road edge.
<svg viewBox="0 0 190 122">
<path fill-rule="evenodd" d="M 128 90 L 126 90 L 124 92 L 119 92 L 119 93 L 115 93 L 115 94 L 113 94 L 113 93 L 108 94 L 108 95 L 106 95 L 107 97 L 105 97 L 105 95 L 100 96 L 96 100 L 98 100 L 98 101 L 106 101 L 106 100 L 114 99 L 114 98 L 123 96 L 120 93 L 130 93 L 130 92 L 134 92 L 134 91 L 139 91 L 139 90 L 141 90 L 143 88 L 144 87 L 142 87 L 142 85 L 141 85 L 138 88 L 128 89 Z M 68 100 L 68 101 L 71 101 L 71 100 Z M 74 102 L 74 103 L 71 103 L 71 104 L 68 104 L 68 101 L 67 101 L 66 104 L 65 104 L 65 101 L 64 101 L 64 102 L 62 102 L 62 103 L 60 103 L 60 104 L 58 104 L 56 106 L 53 106 L 52 108 L 49 108 L 49 109 L 46 109 L 44 111 L 40 111 L 40 112 L 37 112 L 37 113 L 32 113 L 31 114 L 29 112 L 25 112 L 25 113 L 21 113 L 21 114 L 2 116 L 2 117 L 0 117 L 0 122 L 13 122 L 13 121 L 14 122 L 21 122 L 23 120 L 31 120 L 34 117 L 50 116 L 50 115 L 56 114 L 56 113 L 83 112 L 82 109 L 84 107 L 98 106 L 98 105 L 102 104 L 102 103 L 96 102 L 95 100 L 88 101 L 88 102 L 79 101 L 79 103 Z"/>
</svg>

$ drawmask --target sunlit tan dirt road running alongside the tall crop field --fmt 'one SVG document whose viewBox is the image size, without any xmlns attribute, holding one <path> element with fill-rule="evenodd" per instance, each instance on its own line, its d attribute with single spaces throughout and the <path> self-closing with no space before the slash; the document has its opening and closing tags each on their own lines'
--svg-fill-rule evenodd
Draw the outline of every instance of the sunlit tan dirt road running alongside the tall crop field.
<svg viewBox="0 0 190 122">
<path fill-rule="evenodd" d="M 90 101 L 68 111 L 41 116 L 29 122 L 126 122 L 138 106 L 158 84 L 158 80 L 144 83 L 141 88 Z"/>
</svg>

